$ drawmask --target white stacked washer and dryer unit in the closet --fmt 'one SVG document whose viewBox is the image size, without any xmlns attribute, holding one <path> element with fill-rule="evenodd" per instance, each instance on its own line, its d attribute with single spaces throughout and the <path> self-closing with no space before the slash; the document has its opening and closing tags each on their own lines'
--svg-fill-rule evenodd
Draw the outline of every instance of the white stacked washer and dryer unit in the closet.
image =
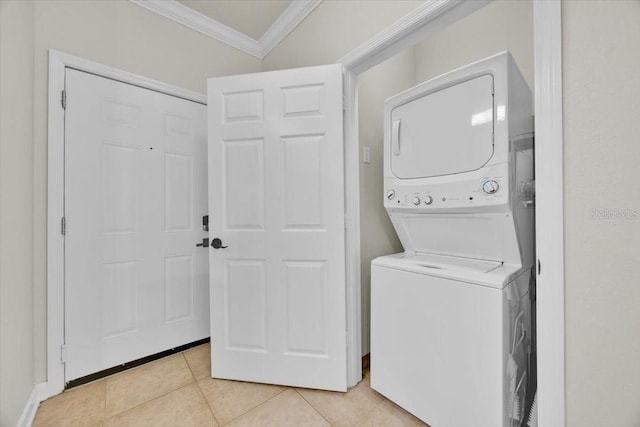
<svg viewBox="0 0 640 427">
<path fill-rule="evenodd" d="M 371 386 L 432 427 L 526 425 L 534 283 L 531 92 L 508 52 L 385 102 Z"/>
</svg>

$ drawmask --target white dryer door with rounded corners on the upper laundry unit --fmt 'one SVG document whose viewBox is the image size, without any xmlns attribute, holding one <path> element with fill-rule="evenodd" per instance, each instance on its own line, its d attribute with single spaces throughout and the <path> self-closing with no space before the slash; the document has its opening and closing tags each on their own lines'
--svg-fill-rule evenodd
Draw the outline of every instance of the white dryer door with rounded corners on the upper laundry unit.
<svg viewBox="0 0 640 427">
<path fill-rule="evenodd" d="M 493 155 L 493 104 L 493 76 L 485 74 L 394 108 L 387 136 L 393 174 L 427 178 L 481 168 Z"/>
</svg>

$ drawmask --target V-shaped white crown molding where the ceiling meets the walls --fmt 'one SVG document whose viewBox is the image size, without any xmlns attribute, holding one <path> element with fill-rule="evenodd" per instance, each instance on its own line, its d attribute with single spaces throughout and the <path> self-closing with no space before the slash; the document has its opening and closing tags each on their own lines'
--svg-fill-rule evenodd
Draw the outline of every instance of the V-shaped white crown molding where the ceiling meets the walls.
<svg viewBox="0 0 640 427">
<path fill-rule="evenodd" d="M 322 0 L 293 0 L 282 15 L 260 37 L 260 40 L 255 40 L 176 0 L 129 1 L 260 59 L 267 56 L 322 2 Z"/>
</svg>

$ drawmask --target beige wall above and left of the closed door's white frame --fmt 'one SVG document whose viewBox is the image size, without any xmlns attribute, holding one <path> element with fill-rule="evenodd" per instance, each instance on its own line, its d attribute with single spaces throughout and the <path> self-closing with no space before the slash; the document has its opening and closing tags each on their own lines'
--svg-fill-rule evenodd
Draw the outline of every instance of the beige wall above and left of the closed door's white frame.
<svg viewBox="0 0 640 427">
<path fill-rule="evenodd" d="M 208 77 L 255 72 L 259 59 L 128 1 L 35 2 L 34 279 L 36 381 L 46 379 L 48 49 L 206 92 Z"/>
</svg>

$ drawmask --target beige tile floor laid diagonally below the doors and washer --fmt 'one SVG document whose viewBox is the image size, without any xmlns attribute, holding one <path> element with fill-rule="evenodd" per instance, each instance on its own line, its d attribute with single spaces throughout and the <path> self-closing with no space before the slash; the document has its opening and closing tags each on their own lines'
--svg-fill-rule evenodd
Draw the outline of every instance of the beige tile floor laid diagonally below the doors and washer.
<svg viewBox="0 0 640 427">
<path fill-rule="evenodd" d="M 209 344 L 139 366 L 40 404 L 43 426 L 426 426 L 369 387 L 347 393 L 209 376 Z"/>
</svg>

